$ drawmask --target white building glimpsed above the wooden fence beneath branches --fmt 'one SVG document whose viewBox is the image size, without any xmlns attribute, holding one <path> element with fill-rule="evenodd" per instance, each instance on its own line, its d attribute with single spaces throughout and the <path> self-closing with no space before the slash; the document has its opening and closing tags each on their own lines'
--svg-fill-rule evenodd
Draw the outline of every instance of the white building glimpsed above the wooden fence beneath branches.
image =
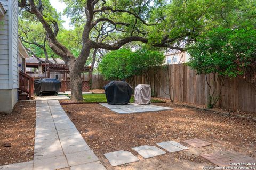
<svg viewBox="0 0 256 170">
<path fill-rule="evenodd" d="M 165 53 L 165 64 L 182 64 L 189 61 L 189 54 L 180 50 L 169 50 Z"/>
</svg>

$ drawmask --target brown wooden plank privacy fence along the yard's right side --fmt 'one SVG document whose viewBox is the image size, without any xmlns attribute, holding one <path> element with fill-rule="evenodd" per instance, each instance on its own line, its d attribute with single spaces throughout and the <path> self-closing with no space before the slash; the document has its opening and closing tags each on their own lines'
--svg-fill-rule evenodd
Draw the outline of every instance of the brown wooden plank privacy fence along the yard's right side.
<svg viewBox="0 0 256 170">
<path fill-rule="evenodd" d="M 155 97 L 174 101 L 207 105 L 209 87 L 205 75 L 197 75 L 196 71 L 183 64 L 157 67 L 145 77 L 135 77 L 134 87 L 146 82 L 151 85 Z M 212 84 L 213 75 L 208 75 Z M 173 90 L 172 90 L 173 88 Z M 233 110 L 256 112 L 256 90 L 242 78 L 225 78 L 221 89 L 221 98 L 217 106 Z"/>
</svg>

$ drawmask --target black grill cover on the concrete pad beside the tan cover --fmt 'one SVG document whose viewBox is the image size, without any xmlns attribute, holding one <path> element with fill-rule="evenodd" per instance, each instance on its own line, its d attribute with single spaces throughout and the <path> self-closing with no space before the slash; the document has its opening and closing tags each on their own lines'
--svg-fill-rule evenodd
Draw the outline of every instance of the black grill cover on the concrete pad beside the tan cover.
<svg viewBox="0 0 256 170">
<path fill-rule="evenodd" d="M 133 88 L 125 81 L 111 81 L 104 90 L 108 104 L 124 105 L 129 103 Z"/>
</svg>

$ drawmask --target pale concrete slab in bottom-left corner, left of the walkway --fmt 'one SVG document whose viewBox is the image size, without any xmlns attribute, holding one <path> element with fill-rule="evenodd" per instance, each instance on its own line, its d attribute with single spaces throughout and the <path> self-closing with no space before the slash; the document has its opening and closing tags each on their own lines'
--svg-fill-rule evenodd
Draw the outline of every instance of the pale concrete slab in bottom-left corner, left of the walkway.
<svg viewBox="0 0 256 170">
<path fill-rule="evenodd" d="M 1 170 L 32 170 L 33 161 L 0 166 Z"/>
</svg>

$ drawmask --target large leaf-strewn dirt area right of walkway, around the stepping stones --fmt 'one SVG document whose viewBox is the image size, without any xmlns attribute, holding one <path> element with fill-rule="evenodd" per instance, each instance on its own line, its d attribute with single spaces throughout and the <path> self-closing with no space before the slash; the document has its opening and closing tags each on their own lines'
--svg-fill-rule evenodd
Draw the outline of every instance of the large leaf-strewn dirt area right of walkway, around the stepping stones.
<svg viewBox="0 0 256 170">
<path fill-rule="evenodd" d="M 202 169 L 213 166 L 199 156 L 221 150 L 234 150 L 256 158 L 256 121 L 176 105 L 173 110 L 116 114 L 99 104 L 63 105 L 70 119 L 107 169 Z M 199 138 L 211 146 L 194 148 L 183 140 Z M 143 159 L 132 147 L 175 140 L 189 150 Z M 104 153 L 131 151 L 140 161 L 111 167 Z"/>
</svg>

